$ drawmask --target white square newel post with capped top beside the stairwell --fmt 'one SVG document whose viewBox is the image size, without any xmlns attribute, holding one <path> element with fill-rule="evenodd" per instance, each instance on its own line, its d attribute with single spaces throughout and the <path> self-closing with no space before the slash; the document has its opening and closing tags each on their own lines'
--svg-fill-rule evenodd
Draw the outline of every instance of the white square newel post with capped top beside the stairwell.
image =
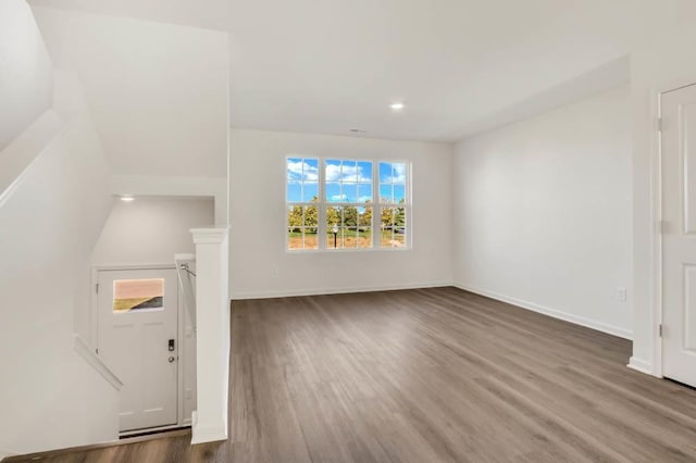
<svg viewBox="0 0 696 463">
<path fill-rule="evenodd" d="M 198 403 L 191 443 L 227 439 L 229 378 L 228 228 L 194 228 Z"/>
</svg>

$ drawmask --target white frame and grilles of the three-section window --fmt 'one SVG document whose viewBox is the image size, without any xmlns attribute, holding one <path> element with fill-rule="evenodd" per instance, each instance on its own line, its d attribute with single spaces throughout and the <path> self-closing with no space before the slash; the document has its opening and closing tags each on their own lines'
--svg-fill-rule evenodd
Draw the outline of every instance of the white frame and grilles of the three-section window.
<svg viewBox="0 0 696 463">
<path fill-rule="evenodd" d="M 287 176 L 287 162 L 290 159 L 301 159 L 301 160 L 316 160 L 318 168 L 319 168 L 319 202 L 318 203 L 308 203 L 308 202 L 289 202 L 287 190 L 288 190 L 288 176 Z M 361 203 L 355 202 L 328 202 L 326 198 L 326 161 L 355 161 L 355 162 L 371 162 L 372 163 L 372 247 L 371 248 L 328 248 L 326 237 L 327 237 L 327 226 L 326 226 L 326 210 L 328 208 L 341 208 L 341 207 L 352 207 L 360 208 L 364 207 Z M 384 204 L 380 202 L 380 163 L 390 163 L 390 164 L 403 164 L 406 165 L 406 183 L 405 183 L 405 195 L 406 202 L 403 204 Z M 313 157 L 309 154 L 288 154 L 285 157 L 285 252 L 290 254 L 306 254 L 313 252 L 327 252 L 327 253 L 340 253 L 340 252 L 374 252 L 374 251 L 410 251 L 412 249 L 413 243 L 413 212 L 412 212 L 412 168 L 411 162 L 401 160 L 401 159 L 369 159 L 369 158 L 355 158 L 355 157 Z M 318 249 L 290 249 L 288 247 L 288 218 L 289 218 L 289 209 L 290 207 L 318 207 L 319 213 L 319 224 L 318 224 Z M 406 223 L 403 224 L 405 229 L 405 239 L 403 246 L 401 247 L 382 247 L 382 209 L 383 208 L 403 208 L 406 214 Z M 304 241 L 302 234 L 302 242 Z"/>
</svg>

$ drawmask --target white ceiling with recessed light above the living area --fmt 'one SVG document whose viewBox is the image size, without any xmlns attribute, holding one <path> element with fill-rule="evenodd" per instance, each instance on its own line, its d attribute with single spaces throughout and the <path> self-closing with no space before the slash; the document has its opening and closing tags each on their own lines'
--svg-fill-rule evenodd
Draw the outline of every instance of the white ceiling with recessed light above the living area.
<svg viewBox="0 0 696 463">
<path fill-rule="evenodd" d="M 442 141 L 626 82 L 631 50 L 696 20 L 693 0 L 32 3 L 228 30 L 234 126 Z"/>
</svg>

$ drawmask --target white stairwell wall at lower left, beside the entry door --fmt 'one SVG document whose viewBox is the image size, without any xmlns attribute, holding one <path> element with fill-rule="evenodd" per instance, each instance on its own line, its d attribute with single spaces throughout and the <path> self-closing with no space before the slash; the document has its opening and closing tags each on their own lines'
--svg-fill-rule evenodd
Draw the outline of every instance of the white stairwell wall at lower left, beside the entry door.
<svg viewBox="0 0 696 463">
<path fill-rule="evenodd" d="M 86 114 L 37 154 L 0 199 L 0 449 L 12 453 L 117 438 L 117 392 L 73 347 L 109 166 Z"/>
</svg>

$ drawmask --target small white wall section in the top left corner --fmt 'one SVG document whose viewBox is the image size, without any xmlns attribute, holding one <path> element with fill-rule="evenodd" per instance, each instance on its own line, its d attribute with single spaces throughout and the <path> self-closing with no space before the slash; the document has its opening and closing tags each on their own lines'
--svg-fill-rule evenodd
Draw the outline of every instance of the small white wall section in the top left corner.
<svg viewBox="0 0 696 463">
<path fill-rule="evenodd" d="M 0 2 L 0 150 L 51 107 L 52 64 L 25 0 Z"/>
</svg>

